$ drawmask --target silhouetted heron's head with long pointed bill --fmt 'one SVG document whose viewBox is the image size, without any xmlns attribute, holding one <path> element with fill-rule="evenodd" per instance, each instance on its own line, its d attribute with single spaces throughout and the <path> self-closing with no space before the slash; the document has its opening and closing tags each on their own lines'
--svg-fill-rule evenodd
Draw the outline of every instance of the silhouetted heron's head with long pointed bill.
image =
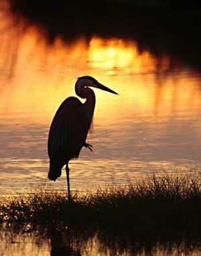
<svg viewBox="0 0 201 256">
<path fill-rule="evenodd" d="M 78 77 L 78 80 L 76 82 L 76 94 L 80 94 L 80 90 L 87 87 L 94 87 L 98 88 L 100 90 L 106 90 L 107 92 L 111 92 L 113 94 L 118 94 L 114 90 L 111 90 L 110 88 L 106 87 L 103 84 L 100 84 L 95 78 L 92 76 L 80 76 Z"/>
</svg>

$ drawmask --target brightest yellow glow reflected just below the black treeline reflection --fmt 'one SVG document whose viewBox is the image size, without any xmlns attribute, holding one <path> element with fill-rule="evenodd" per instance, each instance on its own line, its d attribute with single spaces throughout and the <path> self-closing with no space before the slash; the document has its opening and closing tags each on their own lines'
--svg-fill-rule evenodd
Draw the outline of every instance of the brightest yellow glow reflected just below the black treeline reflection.
<svg viewBox="0 0 201 256">
<path fill-rule="evenodd" d="M 139 54 L 137 43 L 132 40 L 118 38 L 102 39 L 94 37 L 90 40 L 88 60 L 92 68 L 103 68 L 107 74 L 116 74 L 123 69 L 124 74 L 142 72 L 143 67 L 149 64 L 153 70 L 153 57 L 149 52 Z"/>
</svg>

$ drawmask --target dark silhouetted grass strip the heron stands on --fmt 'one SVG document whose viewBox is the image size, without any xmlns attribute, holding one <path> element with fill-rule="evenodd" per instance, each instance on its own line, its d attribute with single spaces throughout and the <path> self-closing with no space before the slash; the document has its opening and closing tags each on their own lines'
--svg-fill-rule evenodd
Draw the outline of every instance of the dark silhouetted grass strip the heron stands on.
<svg viewBox="0 0 201 256">
<path fill-rule="evenodd" d="M 200 174 L 163 174 L 125 188 L 97 190 L 84 196 L 74 194 L 66 200 L 62 193 L 38 193 L 15 197 L 0 206 L 0 221 L 5 225 L 29 223 L 45 227 L 95 225 L 146 233 L 195 233 L 201 228 Z"/>
</svg>

